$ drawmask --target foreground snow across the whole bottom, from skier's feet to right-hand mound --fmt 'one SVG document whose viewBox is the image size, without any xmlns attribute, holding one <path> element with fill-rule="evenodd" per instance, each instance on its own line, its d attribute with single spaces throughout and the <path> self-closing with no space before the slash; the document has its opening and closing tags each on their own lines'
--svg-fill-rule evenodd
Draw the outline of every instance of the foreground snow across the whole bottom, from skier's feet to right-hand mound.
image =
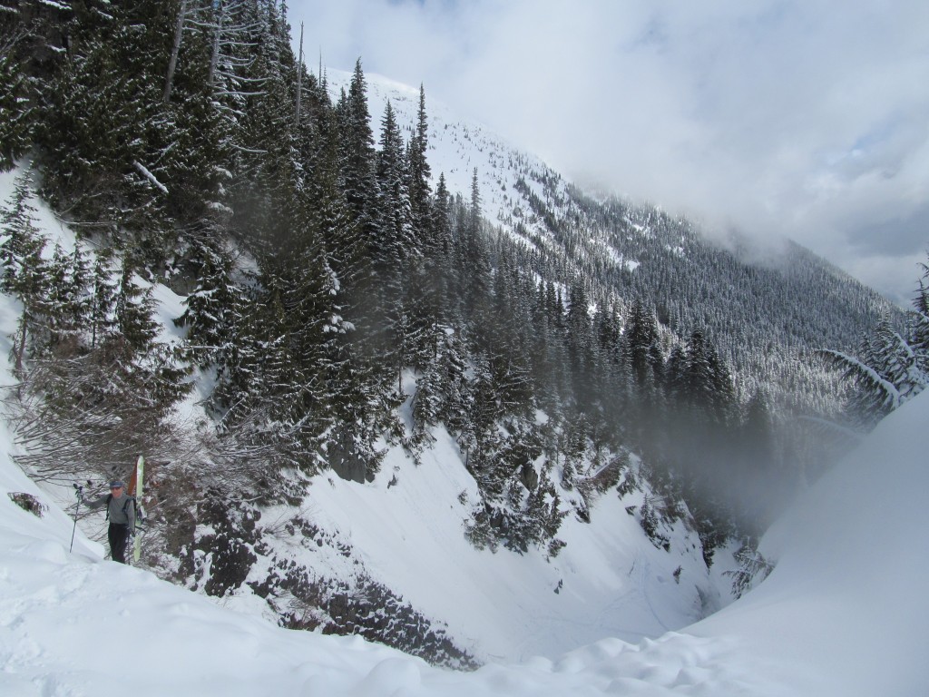
<svg viewBox="0 0 929 697">
<path fill-rule="evenodd" d="M 655 640 L 606 638 L 554 660 L 473 673 L 217 608 L 102 560 L 80 531 L 69 553 L 71 519 L 11 464 L 3 434 L 0 693 L 106 697 L 131 685 L 141 697 L 924 694 L 927 423 L 929 394 L 888 417 L 769 533 L 763 548 L 777 569 L 725 611 Z M 43 516 L 9 493 L 32 494 Z M 457 602 L 453 591 L 444 602 Z"/>
</svg>

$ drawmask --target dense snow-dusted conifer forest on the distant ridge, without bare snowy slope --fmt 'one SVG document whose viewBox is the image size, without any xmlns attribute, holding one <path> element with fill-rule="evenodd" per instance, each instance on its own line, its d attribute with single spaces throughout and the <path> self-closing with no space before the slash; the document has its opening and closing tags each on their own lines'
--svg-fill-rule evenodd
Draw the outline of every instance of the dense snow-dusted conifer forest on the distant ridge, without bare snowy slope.
<svg viewBox="0 0 929 697">
<path fill-rule="evenodd" d="M 830 413 L 838 383 L 815 352 L 853 349 L 882 315 L 902 321 L 896 306 L 794 243 L 759 251 L 736 233 L 713 243 L 685 218 L 594 198 L 539 164 L 514 166 L 520 195 L 507 222 L 539 250 L 546 272 L 580 273 L 596 302 L 618 296 L 623 314 L 643 302 L 674 335 L 700 330 L 738 376 L 743 403 L 762 389 L 779 411 Z"/>
</svg>

